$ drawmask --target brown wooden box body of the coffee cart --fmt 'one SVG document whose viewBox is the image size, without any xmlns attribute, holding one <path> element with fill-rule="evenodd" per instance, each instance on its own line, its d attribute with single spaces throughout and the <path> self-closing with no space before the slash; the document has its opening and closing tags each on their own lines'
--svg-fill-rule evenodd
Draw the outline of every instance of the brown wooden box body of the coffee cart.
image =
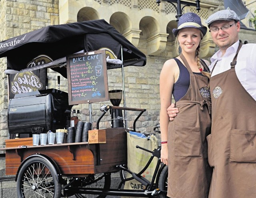
<svg viewBox="0 0 256 198">
<path fill-rule="evenodd" d="M 106 143 L 63 143 L 33 146 L 32 138 L 6 140 L 6 174 L 18 174 L 19 167 L 33 155 L 42 155 L 56 163 L 62 176 L 116 172 L 116 165 L 127 164 L 126 130 L 106 130 Z"/>
</svg>

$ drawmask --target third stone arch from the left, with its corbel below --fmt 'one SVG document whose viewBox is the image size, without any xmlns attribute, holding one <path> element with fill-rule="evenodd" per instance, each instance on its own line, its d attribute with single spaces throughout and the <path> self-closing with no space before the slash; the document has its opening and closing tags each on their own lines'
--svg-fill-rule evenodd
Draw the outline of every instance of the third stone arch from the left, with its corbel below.
<svg viewBox="0 0 256 198">
<path fill-rule="evenodd" d="M 140 20 L 140 39 L 147 42 L 148 55 L 159 55 L 166 48 L 168 34 L 160 33 L 157 20 L 151 16 L 144 16 Z"/>
</svg>

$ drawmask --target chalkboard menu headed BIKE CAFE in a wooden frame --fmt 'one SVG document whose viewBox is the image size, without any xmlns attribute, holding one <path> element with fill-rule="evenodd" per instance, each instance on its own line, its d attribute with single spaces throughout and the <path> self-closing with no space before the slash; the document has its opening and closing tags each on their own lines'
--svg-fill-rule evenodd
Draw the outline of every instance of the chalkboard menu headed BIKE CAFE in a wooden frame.
<svg viewBox="0 0 256 198">
<path fill-rule="evenodd" d="M 108 101 L 108 76 L 105 50 L 68 55 L 68 103 Z"/>
</svg>

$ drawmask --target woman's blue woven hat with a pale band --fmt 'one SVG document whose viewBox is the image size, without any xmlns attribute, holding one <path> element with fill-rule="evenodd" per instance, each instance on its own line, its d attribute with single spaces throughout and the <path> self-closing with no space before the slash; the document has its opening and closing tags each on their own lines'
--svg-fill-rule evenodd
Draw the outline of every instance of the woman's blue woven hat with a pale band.
<svg viewBox="0 0 256 198">
<path fill-rule="evenodd" d="M 207 31 L 207 27 L 202 25 L 201 18 L 193 12 L 188 12 L 183 14 L 179 18 L 178 28 L 172 29 L 172 33 L 174 34 L 174 36 L 177 36 L 178 31 L 180 31 L 180 29 L 183 29 L 185 27 L 194 27 L 194 28 L 200 29 L 203 35 L 205 35 Z"/>
</svg>

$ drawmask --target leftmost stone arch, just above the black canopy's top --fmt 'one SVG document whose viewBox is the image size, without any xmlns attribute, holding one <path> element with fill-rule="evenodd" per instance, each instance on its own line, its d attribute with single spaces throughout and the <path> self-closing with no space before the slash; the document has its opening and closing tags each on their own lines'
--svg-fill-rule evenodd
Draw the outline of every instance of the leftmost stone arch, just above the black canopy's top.
<svg viewBox="0 0 256 198">
<path fill-rule="evenodd" d="M 94 8 L 84 7 L 78 11 L 77 21 L 89 21 L 89 20 L 98 20 L 99 14 Z"/>
</svg>

